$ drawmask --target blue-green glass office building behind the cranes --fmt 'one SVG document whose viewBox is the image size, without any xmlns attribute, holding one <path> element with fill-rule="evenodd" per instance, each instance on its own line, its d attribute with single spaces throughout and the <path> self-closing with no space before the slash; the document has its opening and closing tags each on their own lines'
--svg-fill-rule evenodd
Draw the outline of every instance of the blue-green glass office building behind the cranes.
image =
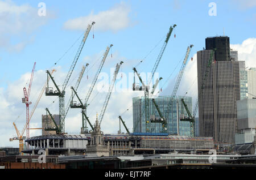
<svg viewBox="0 0 256 180">
<path fill-rule="evenodd" d="M 180 118 L 188 117 L 187 111 L 181 102 L 181 98 L 184 99 L 185 104 L 187 104 L 189 111 L 192 113 L 192 97 L 177 96 L 173 102 L 167 119 L 168 134 L 191 136 L 190 123 L 186 121 L 180 121 Z M 166 117 L 168 103 L 170 100 L 171 96 L 158 96 L 155 98 L 156 104 L 158 104 L 159 109 L 164 117 Z M 155 115 L 156 118 L 160 118 L 160 115 L 158 114 L 158 111 L 156 110 L 152 100 L 150 100 L 150 115 Z M 144 96 L 133 98 L 133 131 L 146 132 Z M 150 132 L 162 132 L 162 123 L 150 122 Z"/>
</svg>

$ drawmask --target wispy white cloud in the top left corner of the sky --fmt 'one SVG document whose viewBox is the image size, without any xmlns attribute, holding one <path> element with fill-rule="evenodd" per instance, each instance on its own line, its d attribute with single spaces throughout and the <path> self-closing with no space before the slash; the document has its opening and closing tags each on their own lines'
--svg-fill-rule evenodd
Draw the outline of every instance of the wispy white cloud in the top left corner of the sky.
<svg viewBox="0 0 256 180">
<path fill-rule="evenodd" d="M 31 33 L 53 17 L 52 12 L 47 12 L 47 16 L 39 16 L 38 8 L 28 4 L 0 1 L 0 48 L 12 53 L 24 49 L 34 40 Z"/>
</svg>

